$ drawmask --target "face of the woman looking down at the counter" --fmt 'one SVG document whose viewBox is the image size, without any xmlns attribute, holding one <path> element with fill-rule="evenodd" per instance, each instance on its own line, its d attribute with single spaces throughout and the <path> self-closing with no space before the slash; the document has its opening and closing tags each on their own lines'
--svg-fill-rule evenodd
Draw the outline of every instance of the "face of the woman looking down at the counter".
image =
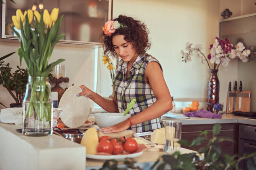
<svg viewBox="0 0 256 170">
<path fill-rule="evenodd" d="M 131 42 L 125 41 L 124 37 L 124 35 L 114 35 L 112 38 L 113 47 L 117 55 L 125 62 L 134 62 L 138 54 Z"/>
</svg>

